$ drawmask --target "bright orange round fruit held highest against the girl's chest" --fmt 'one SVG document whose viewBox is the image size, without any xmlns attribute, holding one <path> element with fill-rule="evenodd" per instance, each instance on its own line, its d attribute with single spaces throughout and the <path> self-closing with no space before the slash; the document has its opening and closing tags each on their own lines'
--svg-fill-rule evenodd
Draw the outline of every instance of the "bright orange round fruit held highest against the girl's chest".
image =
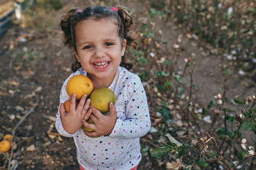
<svg viewBox="0 0 256 170">
<path fill-rule="evenodd" d="M 83 94 L 86 94 L 87 96 L 91 94 L 93 90 L 93 83 L 88 76 L 74 75 L 68 80 L 66 90 L 70 97 L 72 94 L 76 93 L 76 99 L 78 101 L 81 99 Z"/>
</svg>

